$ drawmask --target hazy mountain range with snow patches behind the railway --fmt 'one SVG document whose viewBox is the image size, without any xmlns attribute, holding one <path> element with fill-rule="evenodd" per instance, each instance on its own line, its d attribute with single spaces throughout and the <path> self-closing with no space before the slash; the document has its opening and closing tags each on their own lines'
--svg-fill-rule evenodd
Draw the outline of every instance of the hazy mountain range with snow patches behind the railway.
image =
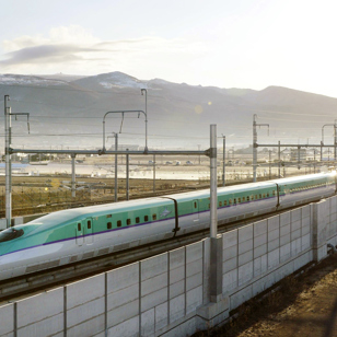
<svg viewBox="0 0 337 337">
<path fill-rule="evenodd" d="M 0 95 L 11 96 L 12 112 L 31 114 L 35 138 L 31 135 L 21 136 L 22 139 L 42 146 L 50 142 L 100 146 L 106 112 L 146 111 L 141 89 L 147 89 L 149 137 L 153 147 L 170 142 L 184 147 L 207 144 L 210 124 L 217 124 L 220 135 L 232 135 L 229 142 L 249 144 L 254 114 L 270 125 L 272 140 L 265 138 L 269 143 L 286 139 L 298 142 L 303 138 L 317 142 L 322 126 L 334 123 L 337 108 L 337 98 L 277 85 L 260 91 L 224 89 L 162 79 L 144 81 L 119 71 L 91 77 L 0 74 Z M 113 117 L 107 135 L 121 129 L 121 142 L 143 142 L 141 118 L 128 114 L 124 119 L 120 114 Z M 24 135 L 24 128 L 16 124 L 14 128 L 18 128 L 14 140 L 20 142 L 19 135 Z M 329 138 L 330 130 L 326 132 Z M 89 133 L 90 137 L 81 137 Z M 259 135 L 265 137 L 266 132 Z M 259 141 L 264 140 L 262 136 Z"/>
</svg>

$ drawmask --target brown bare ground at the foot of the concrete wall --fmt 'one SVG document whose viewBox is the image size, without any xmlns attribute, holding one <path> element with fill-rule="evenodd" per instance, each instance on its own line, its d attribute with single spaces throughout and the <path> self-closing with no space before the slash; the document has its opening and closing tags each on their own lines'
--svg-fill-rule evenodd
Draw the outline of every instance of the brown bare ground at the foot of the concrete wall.
<svg viewBox="0 0 337 337">
<path fill-rule="evenodd" d="M 218 330 L 194 336 L 337 337 L 337 255 L 298 278 L 288 277 L 279 291 L 263 301 L 249 301 L 240 313 Z"/>
</svg>

